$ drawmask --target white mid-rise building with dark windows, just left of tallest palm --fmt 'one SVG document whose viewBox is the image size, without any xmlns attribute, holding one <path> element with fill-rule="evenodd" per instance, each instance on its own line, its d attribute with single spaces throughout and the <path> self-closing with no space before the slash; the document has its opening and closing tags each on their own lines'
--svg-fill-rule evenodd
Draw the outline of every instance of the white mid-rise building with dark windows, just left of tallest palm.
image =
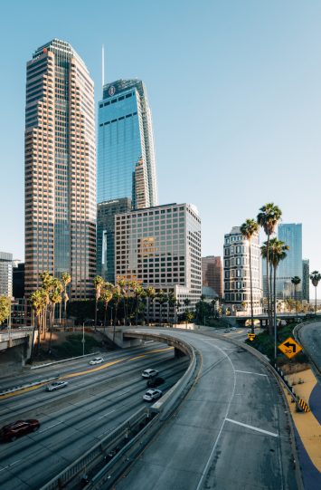
<svg viewBox="0 0 321 490">
<path fill-rule="evenodd" d="M 224 300 L 234 309 L 250 314 L 250 263 L 252 273 L 253 312 L 262 312 L 262 281 L 259 234 L 253 235 L 250 245 L 233 226 L 224 235 Z"/>
</svg>

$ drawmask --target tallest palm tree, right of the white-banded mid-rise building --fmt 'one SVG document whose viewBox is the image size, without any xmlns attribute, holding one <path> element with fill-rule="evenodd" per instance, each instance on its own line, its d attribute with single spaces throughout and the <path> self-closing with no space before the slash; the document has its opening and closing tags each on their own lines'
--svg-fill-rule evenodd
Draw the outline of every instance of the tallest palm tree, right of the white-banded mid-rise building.
<svg viewBox="0 0 321 490">
<path fill-rule="evenodd" d="M 269 289 L 269 239 L 270 235 L 274 233 L 275 227 L 282 216 L 282 211 L 274 203 L 268 203 L 260 207 L 260 213 L 257 216 L 257 221 L 260 226 L 265 231 L 268 236 L 267 241 L 267 296 L 268 296 L 268 323 L 269 323 L 269 334 L 272 334 L 272 311 L 270 302 L 270 289 Z"/>
</svg>

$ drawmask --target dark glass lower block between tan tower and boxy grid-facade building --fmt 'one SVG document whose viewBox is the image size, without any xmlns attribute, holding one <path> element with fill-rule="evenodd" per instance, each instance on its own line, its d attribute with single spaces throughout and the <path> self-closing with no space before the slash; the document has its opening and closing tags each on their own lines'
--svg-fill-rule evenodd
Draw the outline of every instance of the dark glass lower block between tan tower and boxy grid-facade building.
<svg viewBox="0 0 321 490">
<path fill-rule="evenodd" d="M 115 215 L 131 210 L 131 199 L 112 199 L 97 205 L 97 274 L 115 283 Z"/>
</svg>

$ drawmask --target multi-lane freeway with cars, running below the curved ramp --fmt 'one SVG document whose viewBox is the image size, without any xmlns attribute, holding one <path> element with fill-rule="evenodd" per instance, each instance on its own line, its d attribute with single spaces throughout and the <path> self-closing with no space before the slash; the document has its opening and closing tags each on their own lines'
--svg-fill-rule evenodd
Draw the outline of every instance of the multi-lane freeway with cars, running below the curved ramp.
<svg viewBox="0 0 321 490">
<path fill-rule="evenodd" d="M 39 489 L 112 429 L 144 406 L 146 380 L 141 371 L 159 370 L 169 389 L 188 366 L 174 349 L 149 342 L 139 348 L 103 355 L 103 364 L 89 366 L 78 359 L 24 376 L 24 382 L 60 375 L 66 388 L 47 392 L 43 386 L 26 388 L 0 398 L 0 427 L 19 418 L 38 418 L 39 431 L 0 444 L 0 487 Z M 7 385 L 9 378 L 3 378 Z"/>
</svg>

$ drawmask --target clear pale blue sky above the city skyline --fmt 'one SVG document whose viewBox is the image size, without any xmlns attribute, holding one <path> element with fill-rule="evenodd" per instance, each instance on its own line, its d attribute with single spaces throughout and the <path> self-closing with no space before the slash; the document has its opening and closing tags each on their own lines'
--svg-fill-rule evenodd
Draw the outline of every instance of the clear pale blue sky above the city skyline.
<svg viewBox="0 0 321 490">
<path fill-rule="evenodd" d="M 1 6 L 0 250 L 24 259 L 25 62 L 53 37 L 72 44 L 101 96 L 146 82 L 160 203 L 192 202 L 203 255 L 266 202 L 303 223 L 321 270 L 321 2 L 38 0 Z"/>
</svg>

